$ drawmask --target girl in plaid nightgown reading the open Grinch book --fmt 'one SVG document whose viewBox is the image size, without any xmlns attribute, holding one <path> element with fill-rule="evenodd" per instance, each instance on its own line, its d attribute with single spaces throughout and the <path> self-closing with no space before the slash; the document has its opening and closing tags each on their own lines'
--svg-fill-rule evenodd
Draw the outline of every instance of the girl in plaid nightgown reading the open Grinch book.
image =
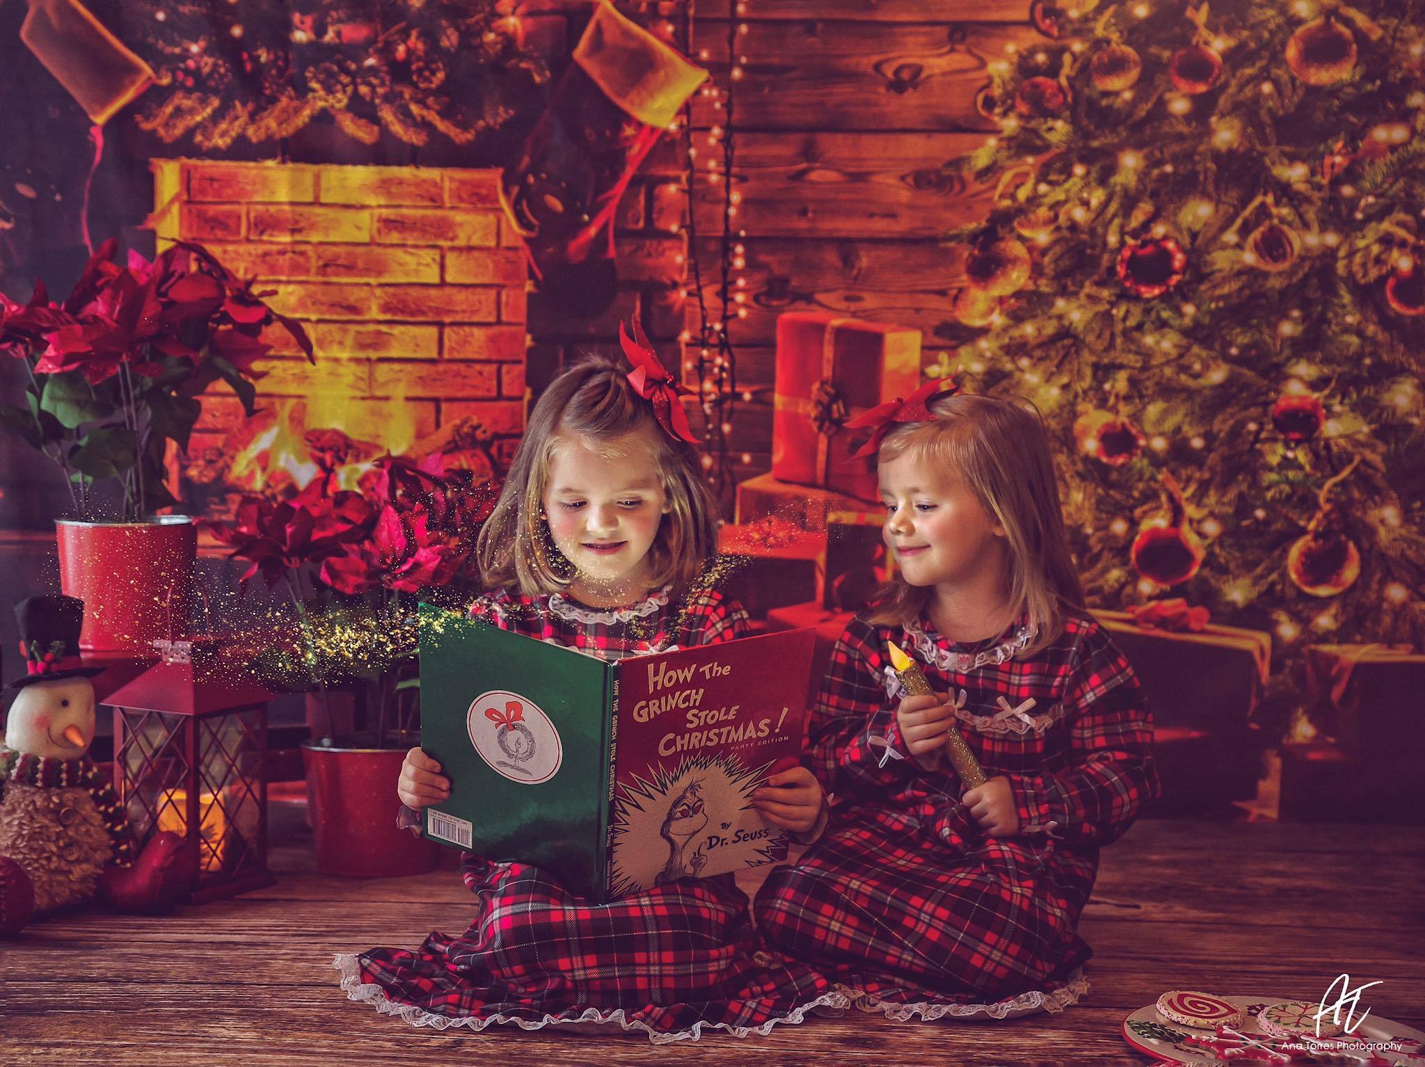
<svg viewBox="0 0 1425 1067">
<path fill-rule="evenodd" d="M 530 413 L 477 543 L 494 591 L 472 614 L 606 660 L 742 637 L 742 608 L 700 581 L 715 506 L 677 389 L 641 335 L 624 338 L 624 350 L 634 372 L 580 363 Z M 410 749 L 398 788 L 402 825 L 418 825 L 418 811 L 449 789 L 440 765 Z M 772 775 L 754 803 L 795 833 L 817 819 L 821 791 L 794 768 Z M 416 952 L 339 956 L 353 1000 L 416 1026 L 613 1021 L 654 1041 L 703 1027 L 767 1033 L 835 1001 L 811 967 L 754 960 L 747 896 L 731 875 L 608 905 L 526 863 L 465 853 L 460 875 L 479 902 L 470 929 L 432 933 Z"/>
</svg>

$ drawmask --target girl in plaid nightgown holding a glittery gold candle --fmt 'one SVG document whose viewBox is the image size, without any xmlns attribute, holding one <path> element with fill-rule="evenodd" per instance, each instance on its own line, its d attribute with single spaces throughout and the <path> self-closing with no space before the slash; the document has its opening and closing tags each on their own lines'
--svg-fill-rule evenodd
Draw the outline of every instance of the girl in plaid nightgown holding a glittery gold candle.
<svg viewBox="0 0 1425 1067">
<path fill-rule="evenodd" d="M 862 417 L 898 576 L 848 624 L 812 712 L 825 829 L 754 906 L 785 957 L 893 1019 L 1077 1000 L 1099 849 L 1159 793 L 1139 682 L 1083 607 L 1039 415 L 945 385 Z M 929 695 L 906 695 L 888 642 Z M 955 764 L 950 731 L 969 749 Z"/>
</svg>

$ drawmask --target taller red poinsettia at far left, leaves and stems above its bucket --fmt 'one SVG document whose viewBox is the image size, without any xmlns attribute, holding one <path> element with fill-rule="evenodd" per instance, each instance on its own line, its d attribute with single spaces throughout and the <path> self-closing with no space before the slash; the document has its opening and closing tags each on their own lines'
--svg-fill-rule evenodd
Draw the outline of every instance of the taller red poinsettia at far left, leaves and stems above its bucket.
<svg viewBox="0 0 1425 1067">
<path fill-rule="evenodd" d="M 105 241 L 61 303 L 37 283 L 30 301 L 0 293 L 0 353 L 28 372 L 26 406 L 0 406 L 0 425 L 66 474 L 80 519 L 137 520 L 177 501 L 164 482 L 168 442 L 187 450 L 200 396 L 225 382 L 248 415 L 279 323 L 314 360 L 302 326 L 272 311 L 201 245 L 177 242 L 152 262 L 115 262 Z M 114 482 L 117 516 L 98 514 L 95 486 Z"/>
</svg>

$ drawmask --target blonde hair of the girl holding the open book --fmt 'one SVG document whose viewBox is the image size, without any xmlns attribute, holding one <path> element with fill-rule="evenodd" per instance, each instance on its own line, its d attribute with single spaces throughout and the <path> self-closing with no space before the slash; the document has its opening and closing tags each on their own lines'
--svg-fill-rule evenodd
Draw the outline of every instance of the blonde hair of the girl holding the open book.
<svg viewBox="0 0 1425 1067">
<path fill-rule="evenodd" d="M 500 499 L 476 541 L 487 588 L 517 585 L 530 597 L 569 588 L 574 567 L 554 547 L 544 519 L 550 460 L 570 440 L 597 449 L 638 432 L 656 442 L 654 463 L 668 509 L 648 547 L 651 587 L 671 583 L 678 597 L 694 584 L 717 547 L 717 504 L 703 482 L 697 450 L 658 425 L 653 405 L 616 360 L 593 356 L 550 382 L 530 412 Z"/>
</svg>

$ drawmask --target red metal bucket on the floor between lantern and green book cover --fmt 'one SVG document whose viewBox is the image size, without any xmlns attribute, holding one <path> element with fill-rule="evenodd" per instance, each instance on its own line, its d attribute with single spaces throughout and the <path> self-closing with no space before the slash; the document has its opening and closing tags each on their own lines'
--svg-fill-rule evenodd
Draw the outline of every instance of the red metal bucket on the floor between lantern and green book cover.
<svg viewBox="0 0 1425 1067">
<path fill-rule="evenodd" d="M 338 738 L 338 744 L 352 739 Z M 415 741 L 412 741 L 415 744 Z M 316 869 L 345 878 L 423 875 L 442 846 L 396 829 L 396 782 L 405 748 L 302 745 Z"/>
</svg>

